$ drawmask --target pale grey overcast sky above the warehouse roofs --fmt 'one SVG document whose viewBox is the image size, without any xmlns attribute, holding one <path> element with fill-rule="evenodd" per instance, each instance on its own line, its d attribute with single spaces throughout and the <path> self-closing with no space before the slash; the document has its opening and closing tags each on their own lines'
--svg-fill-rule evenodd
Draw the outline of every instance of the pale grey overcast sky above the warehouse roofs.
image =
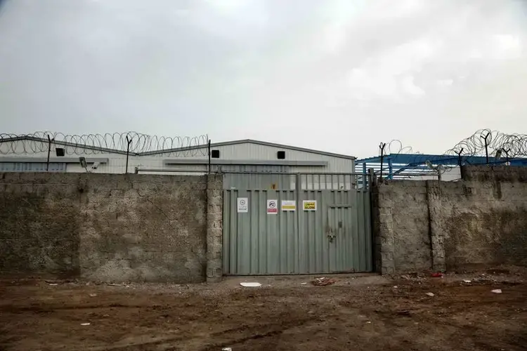
<svg viewBox="0 0 527 351">
<path fill-rule="evenodd" d="M 527 133 L 526 39 L 523 0 L 5 0 L 0 133 L 443 152 Z"/>
</svg>

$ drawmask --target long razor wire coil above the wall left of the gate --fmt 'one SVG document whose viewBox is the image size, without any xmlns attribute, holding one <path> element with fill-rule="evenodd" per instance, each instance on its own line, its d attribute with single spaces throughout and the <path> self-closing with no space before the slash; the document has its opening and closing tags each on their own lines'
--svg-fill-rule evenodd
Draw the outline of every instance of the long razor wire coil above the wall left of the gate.
<svg viewBox="0 0 527 351">
<path fill-rule="evenodd" d="M 105 134 L 63 134 L 35 132 L 31 134 L 0 133 L 0 154 L 31 154 L 48 151 L 48 138 L 52 147 L 63 147 L 67 154 L 126 153 L 131 155 L 165 154 L 167 156 L 206 155 L 208 135 L 195 137 L 165 137 L 137 132 Z"/>
</svg>

